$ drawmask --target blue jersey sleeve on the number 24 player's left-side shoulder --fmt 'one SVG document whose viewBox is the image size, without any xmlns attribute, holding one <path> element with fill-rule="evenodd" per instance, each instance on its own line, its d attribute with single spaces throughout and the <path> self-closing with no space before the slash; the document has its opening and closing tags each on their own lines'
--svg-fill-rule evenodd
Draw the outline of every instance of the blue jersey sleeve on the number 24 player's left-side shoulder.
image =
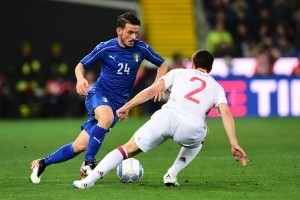
<svg viewBox="0 0 300 200">
<path fill-rule="evenodd" d="M 85 69 L 90 68 L 96 62 L 102 60 L 103 43 L 98 44 L 88 55 L 86 55 L 80 63 L 83 64 Z"/>
</svg>

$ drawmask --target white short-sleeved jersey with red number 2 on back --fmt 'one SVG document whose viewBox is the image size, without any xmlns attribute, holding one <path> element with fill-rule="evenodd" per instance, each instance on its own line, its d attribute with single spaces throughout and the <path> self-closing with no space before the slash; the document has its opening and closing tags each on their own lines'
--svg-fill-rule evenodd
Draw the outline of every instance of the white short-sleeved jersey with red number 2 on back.
<svg viewBox="0 0 300 200">
<path fill-rule="evenodd" d="M 168 102 L 163 108 L 169 108 L 180 114 L 205 123 L 206 114 L 220 103 L 226 103 L 224 89 L 209 74 L 195 69 L 174 69 L 162 77 L 165 90 L 171 88 Z"/>
</svg>

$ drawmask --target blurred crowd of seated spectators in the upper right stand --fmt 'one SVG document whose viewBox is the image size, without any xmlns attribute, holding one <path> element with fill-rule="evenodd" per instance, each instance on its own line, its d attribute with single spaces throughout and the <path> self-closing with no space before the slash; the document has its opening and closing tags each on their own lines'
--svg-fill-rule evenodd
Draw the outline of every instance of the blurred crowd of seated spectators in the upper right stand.
<svg viewBox="0 0 300 200">
<path fill-rule="evenodd" d="M 300 3 L 296 0 L 205 0 L 205 48 L 215 57 L 254 57 L 257 75 L 272 75 L 280 57 L 298 57 Z"/>
</svg>

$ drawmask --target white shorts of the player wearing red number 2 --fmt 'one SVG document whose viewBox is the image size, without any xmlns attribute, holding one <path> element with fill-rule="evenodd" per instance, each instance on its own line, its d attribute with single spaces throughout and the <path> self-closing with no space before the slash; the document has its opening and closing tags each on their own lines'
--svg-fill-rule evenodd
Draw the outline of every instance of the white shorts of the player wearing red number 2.
<svg viewBox="0 0 300 200">
<path fill-rule="evenodd" d="M 195 122 L 170 109 L 156 111 L 149 121 L 134 134 L 137 146 L 148 152 L 167 139 L 186 148 L 196 148 L 204 140 L 207 133 L 206 125 Z"/>
</svg>

